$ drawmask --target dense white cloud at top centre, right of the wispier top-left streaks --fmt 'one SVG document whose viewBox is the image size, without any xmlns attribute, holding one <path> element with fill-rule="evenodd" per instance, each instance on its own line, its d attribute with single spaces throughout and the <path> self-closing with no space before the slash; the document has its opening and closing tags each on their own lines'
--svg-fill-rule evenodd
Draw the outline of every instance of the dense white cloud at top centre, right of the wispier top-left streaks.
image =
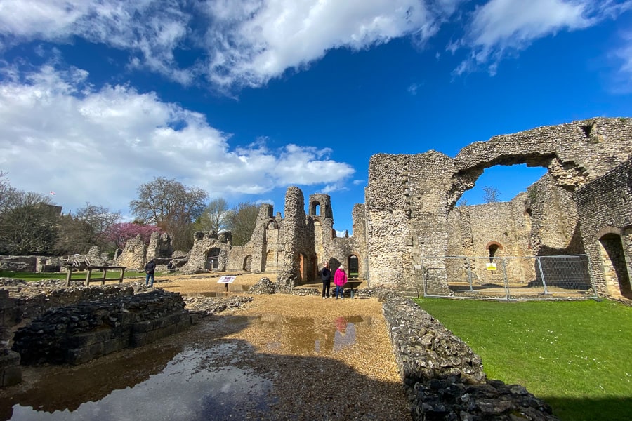
<svg viewBox="0 0 632 421">
<path fill-rule="evenodd" d="M 260 86 L 331 48 L 361 50 L 407 35 L 423 42 L 457 3 L 430 8 L 418 0 L 219 2 L 223 7 L 212 2 L 209 13 L 224 19 L 209 29 L 209 73 L 220 85 Z"/>
</svg>

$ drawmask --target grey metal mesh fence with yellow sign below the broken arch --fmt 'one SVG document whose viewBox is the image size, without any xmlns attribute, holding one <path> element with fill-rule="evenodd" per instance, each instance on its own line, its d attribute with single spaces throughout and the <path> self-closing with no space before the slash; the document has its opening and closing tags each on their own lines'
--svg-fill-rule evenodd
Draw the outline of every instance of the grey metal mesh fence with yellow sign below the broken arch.
<svg viewBox="0 0 632 421">
<path fill-rule="evenodd" d="M 424 295 L 504 300 L 596 296 L 587 255 L 445 256 L 444 261 L 424 268 Z M 447 281 L 447 290 L 440 279 Z"/>
</svg>

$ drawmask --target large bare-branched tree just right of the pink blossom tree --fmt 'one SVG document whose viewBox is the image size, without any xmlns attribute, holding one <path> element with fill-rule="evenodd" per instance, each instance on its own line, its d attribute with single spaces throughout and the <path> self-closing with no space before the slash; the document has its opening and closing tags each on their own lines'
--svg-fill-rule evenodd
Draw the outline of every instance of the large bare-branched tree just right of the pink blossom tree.
<svg viewBox="0 0 632 421">
<path fill-rule="evenodd" d="M 133 215 L 143 224 L 156 224 L 173 236 L 176 250 L 193 244 L 193 222 L 204 212 L 208 194 L 187 187 L 176 179 L 155 177 L 138 187 L 138 199 L 129 203 Z"/>
</svg>

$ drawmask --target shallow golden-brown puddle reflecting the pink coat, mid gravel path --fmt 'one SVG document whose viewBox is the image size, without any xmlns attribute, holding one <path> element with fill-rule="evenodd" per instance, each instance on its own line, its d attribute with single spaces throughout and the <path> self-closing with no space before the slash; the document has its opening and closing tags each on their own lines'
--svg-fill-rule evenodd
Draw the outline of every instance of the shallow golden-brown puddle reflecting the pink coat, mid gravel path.
<svg viewBox="0 0 632 421">
<path fill-rule="evenodd" d="M 371 318 L 361 316 L 336 317 L 335 319 L 310 319 L 266 314 L 253 317 L 250 323 L 267 330 L 266 349 L 298 354 L 334 354 L 355 345 L 363 328 L 371 328 Z"/>
</svg>

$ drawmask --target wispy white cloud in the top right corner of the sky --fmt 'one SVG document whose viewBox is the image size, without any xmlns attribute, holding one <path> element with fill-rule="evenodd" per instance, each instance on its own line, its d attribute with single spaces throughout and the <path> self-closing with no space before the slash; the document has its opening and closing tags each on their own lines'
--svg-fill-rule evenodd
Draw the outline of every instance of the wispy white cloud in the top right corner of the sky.
<svg viewBox="0 0 632 421">
<path fill-rule="evenodd" d="M 506 55 L 527 48 L 534 40 L 598 24 L 632 8 L 632 1 L 612 0 L 490 0 L 475 8 L 462 39 L 447 46 L 470 48 L 468 59 L 454 71 L 470 72 L 487 65 L 495 74 Z"/>
</svg>

